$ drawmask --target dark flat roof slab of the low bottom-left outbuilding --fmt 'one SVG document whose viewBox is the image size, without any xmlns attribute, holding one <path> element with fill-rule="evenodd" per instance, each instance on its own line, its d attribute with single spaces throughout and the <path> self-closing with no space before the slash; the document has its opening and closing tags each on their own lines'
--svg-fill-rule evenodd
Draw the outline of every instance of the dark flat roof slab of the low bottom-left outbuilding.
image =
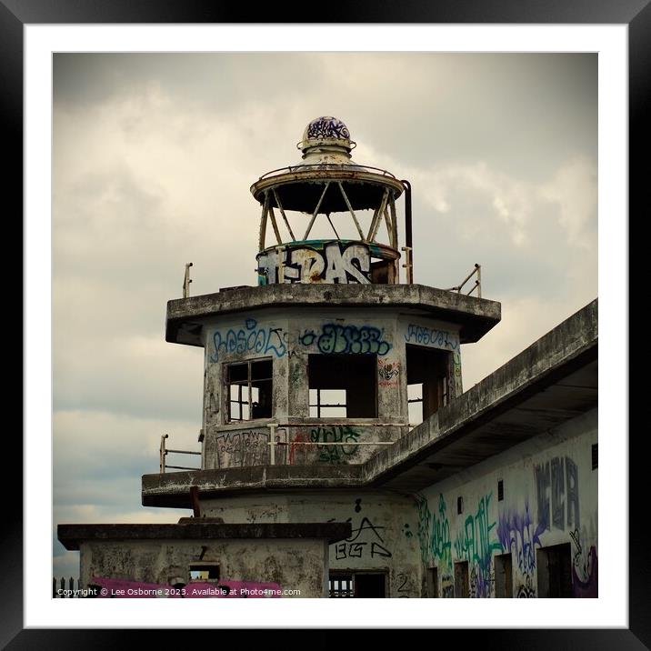
<svg viewBox="0 0 651 651">
<path fill-rule="evenodd" d="M 69 550 L 87 540 L 209 540 L 219 538 L 321 538 L 336 543 L 351 536 L 349 522 L 221 525 L 195 522 L 178 525 L 59 525 L 57 536 Z"/>
</svg>

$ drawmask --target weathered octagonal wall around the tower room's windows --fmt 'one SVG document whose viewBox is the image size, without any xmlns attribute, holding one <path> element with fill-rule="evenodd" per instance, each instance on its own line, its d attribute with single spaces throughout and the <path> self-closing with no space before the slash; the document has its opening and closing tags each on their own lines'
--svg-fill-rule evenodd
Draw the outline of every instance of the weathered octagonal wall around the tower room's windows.
<svg viewBox="0 0 651 651">
<path fill-rule="evenodd" d="M 278 431 L 277 440 L 287 445 L 276 449 L 276 464 L 363 463 L 377 450 L 364 444 L 395 441 L 407 431 L 407 344 L 446 351 L 451 393 L 461 393 L 459 327 L 422 315 L 285 309 L 282 314 L 229 315 L 206 325 L 202 467 L 268 464 L 271 420 L 297 423 Z M 376 417 L 350 418 L 356 423 L 351 426 L 339 425 L 345 420 L 340 417 L 311 418 L 310 354 L 376 356 L 376 377 L 370 380 L 376 383 Z M 225 364 L 262 358 L 273 363 L 272 418 L 228 423 Z"/>
</svg>

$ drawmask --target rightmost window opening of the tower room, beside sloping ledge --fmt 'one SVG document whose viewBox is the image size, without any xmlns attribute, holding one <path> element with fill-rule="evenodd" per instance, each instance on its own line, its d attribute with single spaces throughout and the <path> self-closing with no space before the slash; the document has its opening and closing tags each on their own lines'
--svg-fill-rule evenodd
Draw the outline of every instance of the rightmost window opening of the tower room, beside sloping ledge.
<svg viewBox="0 0 651 651">
<path fill-rule="evenodd" d="M 416 426 L 450 401 L 448 366 L 451 353 L 406 345 L 409 424 Z"/>
</svg>

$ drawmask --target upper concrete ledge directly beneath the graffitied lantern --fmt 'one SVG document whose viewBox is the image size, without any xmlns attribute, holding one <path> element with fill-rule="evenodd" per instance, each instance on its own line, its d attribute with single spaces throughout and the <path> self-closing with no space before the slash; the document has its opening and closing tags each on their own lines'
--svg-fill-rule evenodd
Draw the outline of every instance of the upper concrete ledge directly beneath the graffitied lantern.
<svg viewBox="0 0 651 651">
<path fill-rule="evenodd" d="M 165 341 L 201 346 L 204 317 L 269 307 L 413 308 L 461 325 L 461 343 L 478 341 L 499 323 L 501 305 L 427 285 L 263 285 L 216 294 L 177 298 L 167 303 Z"/>
</svg>

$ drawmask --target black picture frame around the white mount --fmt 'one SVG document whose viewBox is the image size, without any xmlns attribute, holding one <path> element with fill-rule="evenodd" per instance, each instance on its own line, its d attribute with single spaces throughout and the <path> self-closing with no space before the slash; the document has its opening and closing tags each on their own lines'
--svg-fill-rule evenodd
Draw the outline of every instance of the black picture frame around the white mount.
<svg viewBox="0 0 651 651">
<path fill-rule="evenodd" d="M 23 27 L 25 24 L 115 24 L 115 23 L 439 23 L 439 24 L 620 24 L 628 25 L 629 63 L 629 203 L 642 205 L 641 196 L 647 185 L 643 155 L 648 155 L 649 136 L 646 125 L 651 114 L 651 0 L 446 0 L 445 2 L 400 3 L 386 0 L 357 0 L 354 4 L 326 5 L 254 5 L 199 0 L 0 0 L 0 105 L 5 161 L 4 187 L 10 190 L 15 209 L 7 211 L 5 224 L 18 224 L 22 214 L 23 195 Z M 252 15 L 253 14 L 253 15 Z M 253 18 L 253 20 L 252 20 Z M 337 18 L 335 20 L 334 18 Z M 639 162 L 637 162 L 639 161 Z M 637 162 L 637 165 L 635 163 Z M 646 161 L 645 161 L 646 162 Z M 6 196 L 6 195 L 5 195 Z M 627 215 L 621 215 L 626 220 Z M 632 220 L 631 220 L 632 222 Z M 17 235 L 22 240 L 22 231 Z M 13 267 L 15 269 L 15 266 Z M 16 273 L 5 267 L 5 274 Z M 644 281 L 641 281 L 644 284 Z M 6 286 L 6 285 L 5 285 Z M 626 291 L 626 288 L 623 288 Z M 15 305 L 11 310 L 17 311 Z M 25 346 L 27 343 L 25 342 Z M 12 378 L 18 385 L 15 378 Z M 627 405 L 626 405 L 627 408 Z M 5 459 L 20 475 L 22 446 L 13 428 L 13 436 L 5 436 Z M 644 514 L 648 490 L 643 446 L 646 433 L 629 438 L 629 522 L 636 514 Z M 602 436 L 626 436 L 626 432 L 606 432 Z M 9 449 L 7 450 L 7 446 Z M 14 446 L 14 449 L 11 449 Z M 25 629 L 23 625 L 23 517 L 22 500 L 16 494 L 22 482 L 15 480 L 14 492 L 5 488 L 5 515 L 0 527 L 0 645 L 7 649 L 96 649 L 134 643 L 142 637 L 134 630 L 45 630 Z M 19 506 L 20 505 L 20 506 Z M 602 519 L 602 526 L 607 520 Z M 651 646 L 651 562 L 646 554 L 646 524 L 629 530 L 629 568 L 622 567 L 629 577 L 629 627 L 627 629 L 493 629 L 455 631 L 458 645 L 481 643 L 483 648 L 503 649 L 642 649 Z M 630 571 L 629 571 L 630 569 Z M 47 577 L 49 582 L 50 578 Z M 605 586 L 607 589 L 607 586 Z M 598 622 L 595 623 L 596 626 Z M 164 633 L 166 645 L 176 645 L 173 631 Z M 147 631 L 147 644 L 155 644 Z M 443 631 L 441 631 L 443 633 Z M 183 632 L 181 635 L 184 635 Z M 187 634 L 185 634 L 187 635 Z M 459 640 L 458 636 L 463 635 Z M 247 633 L 248 636 L 248 633 Z M 320 636 L 321 637 L 321 636 Z M 285 638 L 286 639 L 286 638 Z M 321 644 L 331 636 L 321 637 Z M 342 638 L 338 638 L 343 643 Z M 440 637 L 437 637 L 440 640 Z M 247 637 L 247 646 L 252 639 Z M 318 644 L 318 642 L 316 642 Z M 285 644 L 286 646 L 286 644 Z"/>
</svg>

